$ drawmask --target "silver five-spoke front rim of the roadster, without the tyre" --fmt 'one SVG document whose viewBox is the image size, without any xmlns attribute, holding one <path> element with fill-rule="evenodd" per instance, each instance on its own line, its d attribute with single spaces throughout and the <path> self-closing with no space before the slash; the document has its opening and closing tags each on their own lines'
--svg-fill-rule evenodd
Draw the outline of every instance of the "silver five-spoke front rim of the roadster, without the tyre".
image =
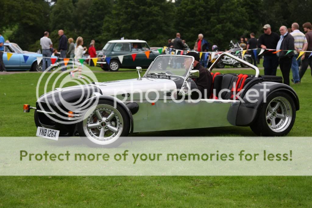
<svg viewBox="0 0 312 208">
<path fill-rule="evenodd" d="M 83 130 L 93 143 L 106 145 L 115 142 L 122 133 L 124 120 L 111 105 L 98 104 L 90 108 L 83 119 Z"/>
</svg>

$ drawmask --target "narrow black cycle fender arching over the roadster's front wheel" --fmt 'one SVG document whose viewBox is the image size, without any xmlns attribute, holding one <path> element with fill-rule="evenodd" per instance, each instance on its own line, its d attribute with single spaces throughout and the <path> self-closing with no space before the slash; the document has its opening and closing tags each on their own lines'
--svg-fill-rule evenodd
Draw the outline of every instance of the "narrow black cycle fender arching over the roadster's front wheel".
<svg viewBox="0 0 312 208">
<path fill-rule="evenodd" d="M 87 100 L 85 100 L 85 102 L 83 104 L 80 105 L 80 108 L 82 106 L 84 106 L 85 104 L 88 104 L 88 106 L 90 107 L 90 103 L 95 104 L 95 102 L 97 102 L 98 100 L 111 100 L 113 102 L 116 102 L 117 104 L 119 104 L 122 108 L 125 109 L 125 111 L 127 112 L 129 118 L 130 118 L 130 124 L 131 124 L 131 127 L 130 127 L 130 132 L 129 133 L 133 133 L 133 125 L 134 125 L 134 121 L 133 121 L 133 116 L 132 116 L 132 113 L 130 111 L 130 109 L 127 107 L 126 104 L 124 104 L 124 102 L 122 102 L 121 100 L 119 100 L 118 98 L 115 98 L 113 96 L 110 96 L 110 95 L 98 95 L 98 96 L 94 96 L 94 97 L 91 97 Z"/>
</svg>

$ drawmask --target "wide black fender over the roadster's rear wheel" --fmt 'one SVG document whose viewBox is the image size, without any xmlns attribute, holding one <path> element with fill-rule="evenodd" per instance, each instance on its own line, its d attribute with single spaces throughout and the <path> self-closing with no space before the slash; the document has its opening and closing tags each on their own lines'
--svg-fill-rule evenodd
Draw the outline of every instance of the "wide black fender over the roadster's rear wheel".
<svg viewBox="0 0 312 208">
<path fill-rule="evenodd" d="M 300 109 L 298 95 L 290 86 L 277 82 L 253 82 L 250 84 L 253 85 L 246 86 L 247 88 L 240 94 L 241 104 L 236 116 L 236 126 L 249 126 L 256 118 L 258 109 L 264 103 L 264 98 L 277 91 L 289 94 L 294 100 L 296 111 Z M 267 91 L 265 92 L 264 89 Z M 249 100 L 247 99 L 248 94 L 253 95 Z"/>
</svg>

